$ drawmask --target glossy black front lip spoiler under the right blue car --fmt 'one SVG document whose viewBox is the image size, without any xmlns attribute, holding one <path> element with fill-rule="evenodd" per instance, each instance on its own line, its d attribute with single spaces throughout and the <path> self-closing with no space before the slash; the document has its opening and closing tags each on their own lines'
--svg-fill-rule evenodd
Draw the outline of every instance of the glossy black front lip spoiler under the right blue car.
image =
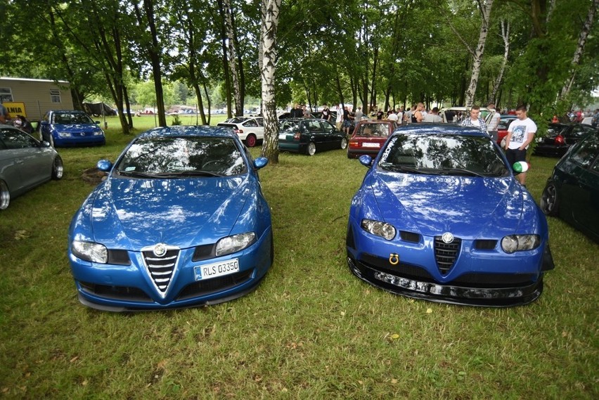
<svg viewBox="0 0 599 400">
<path fill-rule="evenodd" d="M 534 302 L 543 292 L 543 276 L 534 284 L 520 288 L 464 288 L 401 278 L 356 263 L 352 257 L 347 257 L 347 264 L 355 276 L 377 288 L 430 302 L 474 307 L 515 307 Z"/>
</svg>

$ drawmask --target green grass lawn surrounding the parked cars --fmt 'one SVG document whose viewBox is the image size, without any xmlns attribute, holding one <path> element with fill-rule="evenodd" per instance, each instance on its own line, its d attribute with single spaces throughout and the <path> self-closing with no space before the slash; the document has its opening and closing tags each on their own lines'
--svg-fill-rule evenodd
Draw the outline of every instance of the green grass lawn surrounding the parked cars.
<svg viewBox="0 0 599 400">
<path fill-rule="evenodd" d="M 93 189 L 81 174 L 115 160 L 131 138 L 110 120 L 107 146 L 60 149 L 64 179 L 0 213 L 0 397 L 599 397 L 597 244 L 550 218 L 556 268 L 525 307 L 456 307 L 378 290 L 345 262 L 349 202 L 366 168 L 342 150 L 283 153 L 262 169 L 276 259 L 255 292 L 179 311 L 83 307 L 65 252 L 70 218 Z M 532 157 L 536 199 L 556 161 Z"/>
</svg>

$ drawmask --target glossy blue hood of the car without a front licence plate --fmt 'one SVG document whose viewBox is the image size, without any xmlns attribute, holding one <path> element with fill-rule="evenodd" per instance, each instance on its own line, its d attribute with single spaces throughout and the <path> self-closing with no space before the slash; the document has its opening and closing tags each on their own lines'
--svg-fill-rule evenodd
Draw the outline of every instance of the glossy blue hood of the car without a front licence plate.
<svg viewBox="0 0 599 400">
<path fill-rule="evenodd" d="M 371 174 L 383 219 L 425 236 L 451 232 L 462 238 L 501 238 L 534 230 L 534 200 L 512 177 L 479 178 L 397 173 Z"/>
</svg>

